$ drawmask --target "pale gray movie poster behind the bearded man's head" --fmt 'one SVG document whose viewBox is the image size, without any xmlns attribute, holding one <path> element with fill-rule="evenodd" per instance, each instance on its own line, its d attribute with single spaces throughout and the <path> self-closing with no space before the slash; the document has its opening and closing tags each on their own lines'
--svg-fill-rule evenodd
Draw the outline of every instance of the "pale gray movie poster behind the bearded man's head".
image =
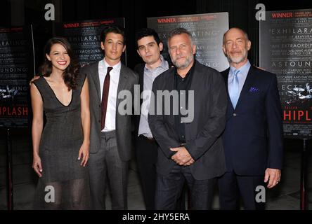
<svg viewBox="0 0 312 224">
<path fill-rule="evenodd" d="M 228 68 L 228 60 L 222 51 L 223 34 L 228 30 L 228 13 L 175 15 L 148 18 L 148 27 L 155 29 L 164 43 L 162 55 L 169 60 L 167 36 L 172 29 L 183 27 L 193 36 L 196 59 L 218 71 Z"/>
</svg>

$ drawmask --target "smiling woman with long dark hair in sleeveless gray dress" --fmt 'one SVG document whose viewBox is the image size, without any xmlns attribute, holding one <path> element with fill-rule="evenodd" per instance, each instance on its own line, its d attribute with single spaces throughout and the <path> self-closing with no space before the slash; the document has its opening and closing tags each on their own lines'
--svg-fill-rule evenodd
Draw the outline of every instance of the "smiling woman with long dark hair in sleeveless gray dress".
<svg viewBox="0 0 312 224">
<path fill-rule="evenodd" d="M 89 89 L 70 43 L 51 38 L 40 78 L 30 86 L 35 209 L 89 209 Z M 46 124 L 44 125 L 44 114 Z"/>
</svg>

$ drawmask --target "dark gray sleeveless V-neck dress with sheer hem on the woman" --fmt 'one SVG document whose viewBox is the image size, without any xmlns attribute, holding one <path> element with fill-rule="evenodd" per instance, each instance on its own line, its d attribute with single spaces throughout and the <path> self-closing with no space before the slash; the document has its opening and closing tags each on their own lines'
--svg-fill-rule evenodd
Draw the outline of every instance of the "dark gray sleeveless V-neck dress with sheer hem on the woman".
<svg viewBox="0 0 312 224">
<path fill-rule="evenodd" d="M 78 160 L 83 142 L 80 93 L 85 78 L 79 74 L 68 106 L 58 100 L 44 77 L 34 80 L 46 115 L 39 145 L 43 172 L 34 195 L 34 209 L 89 209 L 88 168 L 80 166 L 82 158 Z"/>
</svg>

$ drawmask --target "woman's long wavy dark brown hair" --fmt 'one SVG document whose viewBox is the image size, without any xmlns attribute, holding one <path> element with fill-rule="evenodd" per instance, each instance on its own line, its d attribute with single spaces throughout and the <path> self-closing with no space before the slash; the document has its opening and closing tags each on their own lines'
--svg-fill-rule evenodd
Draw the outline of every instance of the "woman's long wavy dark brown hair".
<svg viewBox="0 0 312 224">
<path fill-rule="evenodd" d="M 54 44 L 59 43 L 63 45 L 66 49 L 68 56 L 70 57 L 70 64 L 67 66 L 63 73 L 63 78 L 65 85 L 67 85 L 68 90 L 75 89 L 77 87 L 77 76 L 78 76 L 78 64 L 74 58 L 74 53 L 72 52 L 72 48 L 70 43 L 67 41 L 66 38 L 63 37 L 53 37 L 46 42 L 44 47 L 44 63 L 39 68 L 39 75 L 40 76 L 50 76 L 52 73 L 52 63 L 48 60 L 46 55 L 50 54 L 51 48 Z"/>
</svg>

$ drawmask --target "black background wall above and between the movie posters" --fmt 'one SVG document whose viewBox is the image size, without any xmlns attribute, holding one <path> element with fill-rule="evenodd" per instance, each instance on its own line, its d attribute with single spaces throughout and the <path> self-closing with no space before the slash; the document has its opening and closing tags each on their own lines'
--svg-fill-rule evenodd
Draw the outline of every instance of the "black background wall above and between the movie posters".
<svg viewBox="0 0 312 224">
<path fill-rule="evenodd" d="M 53 36 L 53 22 L 44 20 L 46 3 L 56 6 L 56 22 L 125 18 L 128 66 L 131 68 L 141 62 L 134 45 L 134 33 L 146 27 L 148 17 L 228 12 L 230 27 L 241 27 L 249 34 L 252 41 L 249 59 L 252 64 L 258 65 L 259 22 L 254 18 L 256 4 L 264 3 L 266 10 L 312 8 L 312 1 L 308 0 L 1 0 L 0 26 L 16 25 L 18 22 L 18 25 L 33 25 L 37 66 L 43 58 L 44 43 Z"/>
</svg>

